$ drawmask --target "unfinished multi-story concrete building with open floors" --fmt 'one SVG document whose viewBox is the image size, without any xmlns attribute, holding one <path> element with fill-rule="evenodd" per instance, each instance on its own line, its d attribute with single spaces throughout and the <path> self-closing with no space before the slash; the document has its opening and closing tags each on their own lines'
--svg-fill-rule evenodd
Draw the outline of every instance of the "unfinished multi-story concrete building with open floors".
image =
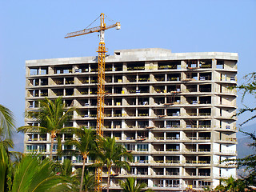
<svg viewBox="0 0 256 192">
<path fill-rule="evenodd" d="M 156 191 L 217 186 L 236 177 L 238 54 L 171 53 L 163 49 L 116 50 L 106 57 L 104 135 L 130 150 L 131 170 L 113 168 L 111 188 L 136 177 Z M 26 111 L 42 98 L 62 96 L 76 106 L 70 126 L 96 126 L 97 57 L 26 61 Z M 36 119 L 27 119 L 37 125 Z M 63 134 L 63 143 L 73 135 Z M 56 150 L 57 146 L 54 146 Z M 63 148 L 66 146 L 63 146 Z M 50 135 L 27 133 L 25 152 L 50 153 Z M 81 166 L 81 157 L 72 158 Z M 90 158 L 87 160 L 90 165 Z M 106 179 L 106 169 L 103 168 Z"/>
</svg>

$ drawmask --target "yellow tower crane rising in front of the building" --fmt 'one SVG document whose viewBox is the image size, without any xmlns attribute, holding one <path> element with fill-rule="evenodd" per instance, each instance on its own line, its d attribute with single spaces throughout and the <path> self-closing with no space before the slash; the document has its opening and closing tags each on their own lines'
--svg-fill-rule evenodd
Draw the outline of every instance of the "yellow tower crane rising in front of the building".
<svg viewBox="0 0 256 192">
<path fill-rule="evenodd" d="M 98 46 L 98 98 L 97 98 L 97 134 L 102 137 L 103 136 L 103 126 L 104 126 L 104 96 L 105 96 L 105 57 L 106 57 L 106 46 L 104 42 L 104 34 L 105 30 L 110 28 L 116 28 L 120 30 L 120 22 L 116 22 L 113 25 L 106 26 L 105 23 L 105 15 L 101 14 L 98 18 L 101 19 L 101 25 L 93 28 L 86 28 L 84 30 L 78 30 L 75 32 L 71 32 L 66 34 L 65 38 L 73 38 L 76 36 L 80 36 L 83 34 L 91 34 L 94 32 L 99 32 L 100 42 Z M 94 22 L 98 19 L 96 18 Z M 91 23 L 92 24 L 92 23 Z M 91 25 L 90 24 L 90 25 Z M 97 187 L 96 191 L 102 191 L 102 167 L 96 169 L 96 182 Z"/>
</svg>

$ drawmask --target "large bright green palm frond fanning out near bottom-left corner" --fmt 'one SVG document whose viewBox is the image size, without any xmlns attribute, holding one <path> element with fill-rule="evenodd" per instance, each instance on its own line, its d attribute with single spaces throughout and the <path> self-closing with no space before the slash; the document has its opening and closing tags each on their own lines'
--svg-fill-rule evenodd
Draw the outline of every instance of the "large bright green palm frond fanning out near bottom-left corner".
<svg viewBox="0 0 256 192">
<path fill-rule="evenodd" d="M 12 191 L 41 192 L 68 190 L 69 179 L 57 176 L 53 162 L 39 160 L 37 156 L 26 155 L 15 167 Z"/>
</svg>

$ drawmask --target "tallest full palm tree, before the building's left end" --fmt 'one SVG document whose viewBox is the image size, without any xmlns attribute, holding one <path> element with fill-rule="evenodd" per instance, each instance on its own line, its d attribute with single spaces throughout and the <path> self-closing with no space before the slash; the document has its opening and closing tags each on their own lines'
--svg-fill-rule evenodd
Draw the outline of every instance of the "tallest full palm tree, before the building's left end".
<svg viewBox="0 0 256 192">
<path fill-rule="evenodd" d="M 34 115 L 38 118 L 40 126 L 21 126 L 18 128 L 18 132 L 39 132 L 39 133 L 49 133 L 50 134 L 50 160 L 53 158 L 53 147 L 54 147 L 54 138 L 58 134 L 69 132 L 71 130 L 76 130 L 74 127 L 63 127 L 67 122 L 72 118 L 72 113 L 75 109 L 69 108 L 65 110 L 65 106 L 62 102 L 62 98 L 56 98 L 54 101 L 51 101 L 49 98 L 45 98 L 40 101 L 40 110 L 37 112 L 28 113 L 30 117 Z M 58 144 L 60 138 L 58 137 Z M 58 150 L 59 149 L 58 145 Z"/>
</svg>

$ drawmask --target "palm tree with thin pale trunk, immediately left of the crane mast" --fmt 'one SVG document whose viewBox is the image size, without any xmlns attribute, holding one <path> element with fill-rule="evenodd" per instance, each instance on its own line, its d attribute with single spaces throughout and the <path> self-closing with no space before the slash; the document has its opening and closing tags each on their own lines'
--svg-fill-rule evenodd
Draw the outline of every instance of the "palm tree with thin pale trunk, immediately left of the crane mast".
<svg viewBox="0 0 256 192">
<path fill-rule="evenodd" d="M 97 148 L 96 131 L 92 130 L 91 128 L 86 129 L 85 127 L 82 127 L 82 129 L 77 130 L 75 134 L 78 136 L 78 139 L 71 139 L 70 141 L 66 142 L 67 145 L 74 146 L 75 150 L 64 150 L 64 153 L 70 152 L 71 154 L 80 154 L 82 156 L 82 176 L 79 189 L 79 191 L 82 192 L 86 158 L 88 155 L 95 153 Z"/>
</svg>

